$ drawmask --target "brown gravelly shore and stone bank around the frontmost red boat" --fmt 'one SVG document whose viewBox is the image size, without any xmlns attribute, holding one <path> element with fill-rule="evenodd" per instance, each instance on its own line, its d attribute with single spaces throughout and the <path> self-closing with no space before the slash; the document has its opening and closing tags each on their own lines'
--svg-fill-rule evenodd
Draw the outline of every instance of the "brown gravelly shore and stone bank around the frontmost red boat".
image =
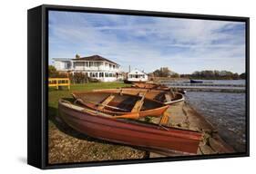
<svg viewBox="0 0 256 174">
<path fill-rule="evenodd" d="M 168 111 L 168 126 L 203 132 L 198 155 L 234 152 L 230 145 L 221 140 L 210 122 L 206 121 L 187 102 L 171 105 Z M 158 123 L 159 118 L 152 118 L 151 121 Z M 69 128 L 57 117 L 49 121 L 48 142 L 48 162 L 50 164 L 163 157 L 154 152 L 87 137 Z M 173 154 L 173 156 L 180 155 L 182 154 Z"/>
</svg>

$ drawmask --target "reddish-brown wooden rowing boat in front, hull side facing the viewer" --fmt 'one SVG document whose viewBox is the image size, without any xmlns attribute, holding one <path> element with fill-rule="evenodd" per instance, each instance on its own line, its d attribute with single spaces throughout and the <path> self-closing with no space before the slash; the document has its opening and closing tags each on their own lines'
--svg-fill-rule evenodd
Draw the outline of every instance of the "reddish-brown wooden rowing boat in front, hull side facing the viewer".
<svg viewBox="0 0 256 174">
<path fill-rule="evenodd" d="M 138 121 L 115 119 L 106 113 L 59 100 L 59 116 L 70 127 L 88 136 L 127 144 L 162 154 L 196 154 L 201 133 Z"/>
</svg>

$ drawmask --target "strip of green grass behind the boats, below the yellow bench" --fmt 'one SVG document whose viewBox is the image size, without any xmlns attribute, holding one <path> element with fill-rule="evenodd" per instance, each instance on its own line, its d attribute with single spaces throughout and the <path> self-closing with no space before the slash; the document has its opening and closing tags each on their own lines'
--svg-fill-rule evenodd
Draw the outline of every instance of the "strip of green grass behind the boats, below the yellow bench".
<svg viewBox="0 0 256 174">
<path fill-rule="evenodd" d="M 60 98 L 71 98 L 72 92 L 77 91 L 92 91 L 97 89 L 111 89 L 128 87 L 130 84 L 124 82 L 89 82 L 85 84 L 73 84 L 68 91 L 66 87 L 61 90 L 49 88 L 48 92 L 48 111 L 49 116 L 56 116 L 57 113 L 57 102 Z"/>
</svg>

